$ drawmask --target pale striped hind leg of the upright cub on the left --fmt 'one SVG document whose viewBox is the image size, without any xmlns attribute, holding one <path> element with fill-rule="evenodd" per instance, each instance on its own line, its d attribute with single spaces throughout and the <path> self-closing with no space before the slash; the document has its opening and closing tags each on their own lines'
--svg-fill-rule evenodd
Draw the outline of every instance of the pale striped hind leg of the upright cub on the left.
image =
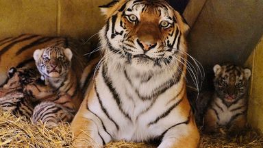
<svg viewBox="0 0 263 148">
<path fill-rule="evenodd" d="M 55 127 L 61 121 L 70 122 L 74 117 L 75 110 L 51 101 L 43 101 L 34 108 L 32 121 L 42 121 L 47 127 Z"/>
</svg>

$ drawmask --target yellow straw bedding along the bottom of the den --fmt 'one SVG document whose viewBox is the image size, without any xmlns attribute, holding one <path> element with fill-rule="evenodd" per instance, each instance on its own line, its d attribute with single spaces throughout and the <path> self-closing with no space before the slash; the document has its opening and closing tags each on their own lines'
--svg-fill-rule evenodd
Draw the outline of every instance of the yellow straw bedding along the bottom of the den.
<svg viewBox="0 0 263 148">
<path fill-rule="evenodd" d="M 25 118 L 17 118 L 9 112 L 0 110 L 0 147 L 72 147 L 73 136 L 68 124 L 64 123 L 53 129 L 45 124 L 32 125 Z M 143 143 L 125 143 L 119 141 L 105 146 L 120 148 L 151 148 L 154 145 Z M 263 147 L 263 136 L 256 130 L 246 130 L 243 136 L 225 138 L 224 134 L 203 135 L 200 147 Z"/>
</svg>

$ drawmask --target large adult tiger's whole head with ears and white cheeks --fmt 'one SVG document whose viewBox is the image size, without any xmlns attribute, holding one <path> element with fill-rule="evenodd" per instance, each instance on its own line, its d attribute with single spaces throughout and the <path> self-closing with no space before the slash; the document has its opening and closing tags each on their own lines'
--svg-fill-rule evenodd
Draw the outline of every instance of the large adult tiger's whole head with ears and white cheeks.
<svg viewBox="0 0 263 148">
<path fill-rule="evenodd" d="M 121 0 L 101 6 L 107 55 L 138 69 L 168 69 L 185 56 L 188 25 L 164 0 Z"/>
</svg>

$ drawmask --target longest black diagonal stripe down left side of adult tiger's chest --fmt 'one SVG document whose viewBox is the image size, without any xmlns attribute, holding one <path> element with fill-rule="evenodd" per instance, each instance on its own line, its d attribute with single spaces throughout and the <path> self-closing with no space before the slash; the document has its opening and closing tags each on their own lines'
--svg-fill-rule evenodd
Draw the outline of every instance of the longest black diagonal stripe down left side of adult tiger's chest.
<svg viewBox="0 0 263 148">
<path fill-rule="evenodd" d="M 110 77 L 108 77 L 107 75 L 107 67 L 105 65 L 102 66 L 102 76 L 104 79 L 105 84 L 108 86 L 108 88 L 110 89 L 110 92 L 112 93 L 113 98 L 115 99 L 117 105 L 118 105 L 118 109 L 121 110 L 121 112 L 123 113 L 123 115 L 125 115 L 125 117 L 127 119 L 129 119 L 129 121 L 132 121 L 131 117 L 129 116 L 129 114 L 127 114 L 126 112 L 124 112 L 123 108 L 121 108 L 121 99 L 119 98 L 119 95 L 116 93 L 115 88 L 113 88 L 112 86 L 112 81 L 110 79 Z"/>
</svg>

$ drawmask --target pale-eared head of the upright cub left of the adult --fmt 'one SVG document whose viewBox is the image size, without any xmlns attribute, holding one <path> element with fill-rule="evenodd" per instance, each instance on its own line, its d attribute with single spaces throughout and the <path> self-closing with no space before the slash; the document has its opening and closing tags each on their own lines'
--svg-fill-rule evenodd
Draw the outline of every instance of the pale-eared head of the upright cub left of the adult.
<svg viewBox="0 0 263 148">
<path fill-rule="evenodd" d="M 38 71 L 44 77 L 58 78 L 68 73 L 73 54 L 71 49 L 47 47 L 34 51 Z"/>
</svg>

